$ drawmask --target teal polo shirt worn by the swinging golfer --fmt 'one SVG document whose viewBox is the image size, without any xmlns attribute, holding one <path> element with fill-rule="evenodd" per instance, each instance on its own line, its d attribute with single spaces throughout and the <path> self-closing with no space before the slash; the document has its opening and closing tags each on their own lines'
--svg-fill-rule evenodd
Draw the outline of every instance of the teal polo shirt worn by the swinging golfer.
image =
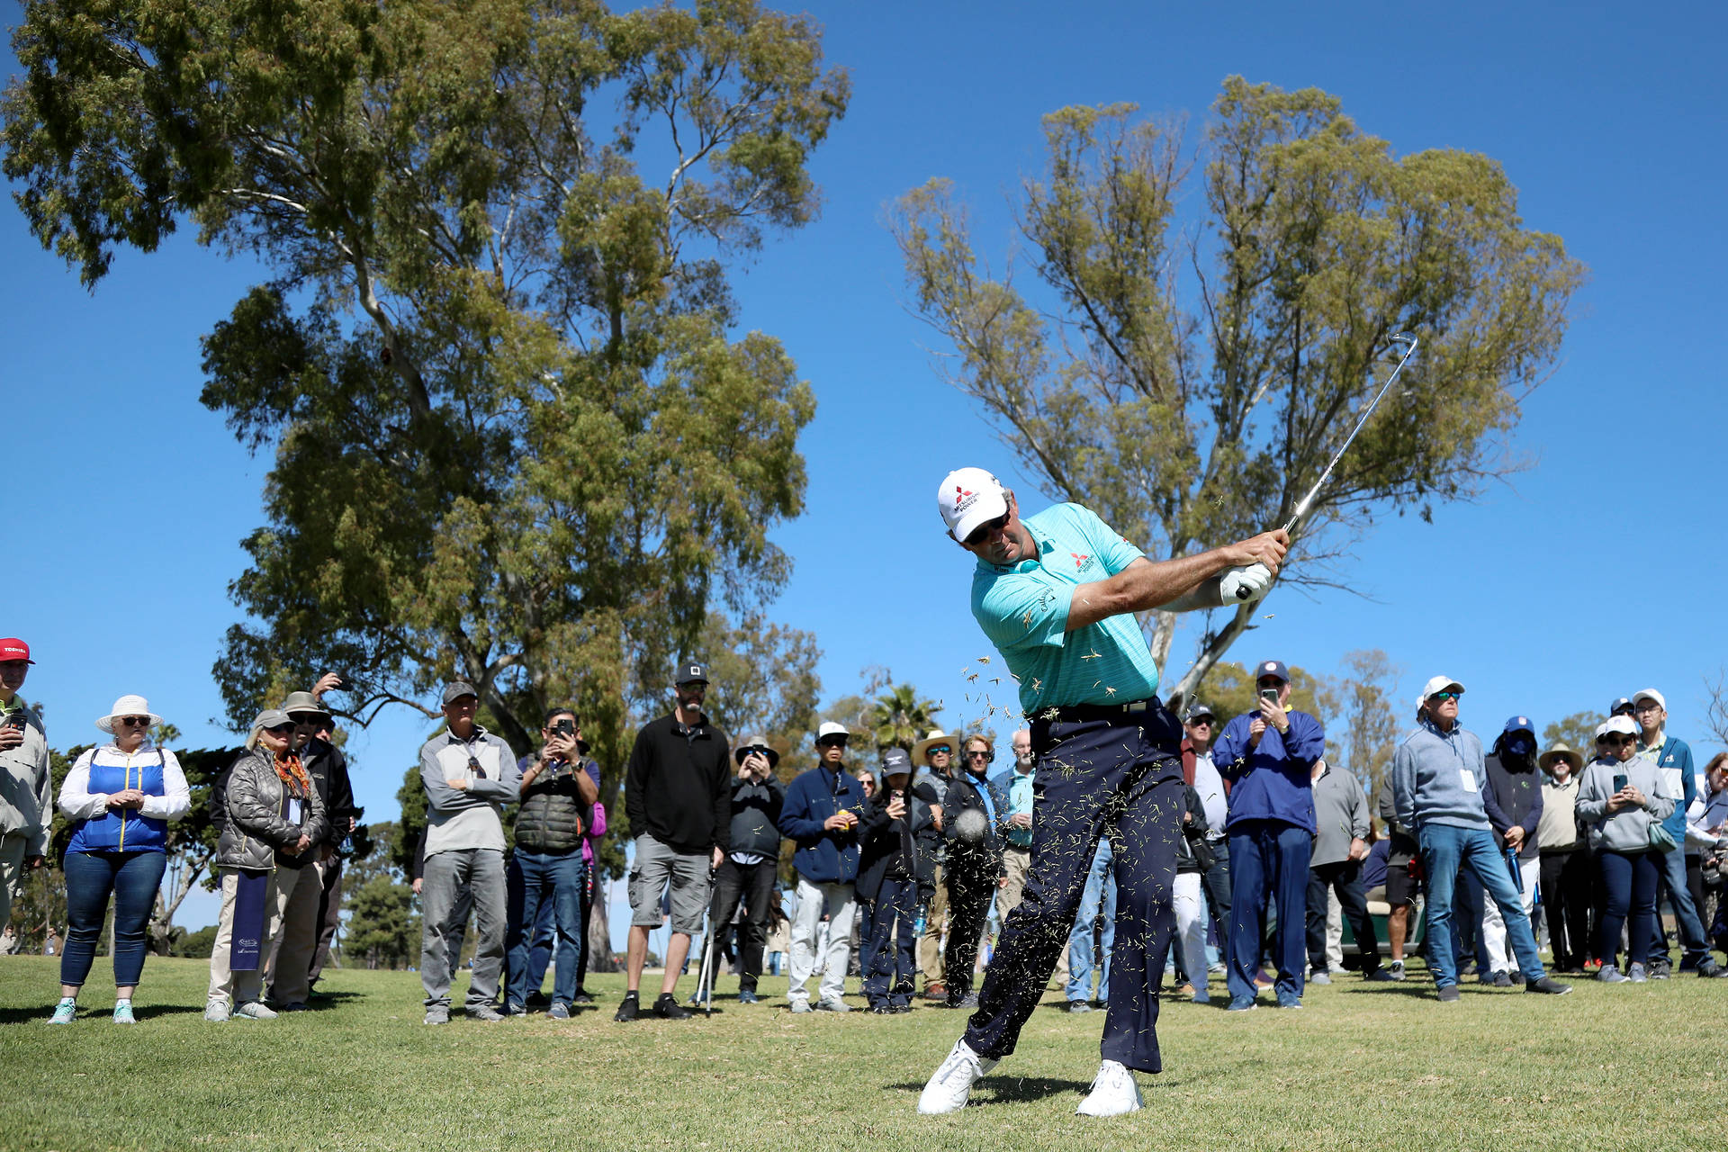
<svg viewBox="0 0 1728 1152">
<path fill-rule="evenodd" d="M 1066 632 L 1073 589 L 1116 575 L 1139 548 L 1080 504 L 1023 520 L 1037 560 L 1011 568 L 978 561 L 973 617 L 1020 682 L 1026 718 L 1058 705 L 1125 705 L 1158 693 L 1158 665 L 1134 613 Z"/>
</svg>

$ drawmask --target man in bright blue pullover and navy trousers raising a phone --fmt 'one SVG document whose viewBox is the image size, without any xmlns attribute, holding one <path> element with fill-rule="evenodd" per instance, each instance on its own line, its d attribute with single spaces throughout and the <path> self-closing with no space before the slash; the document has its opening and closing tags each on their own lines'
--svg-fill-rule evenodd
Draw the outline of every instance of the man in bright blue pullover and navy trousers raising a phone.
<svg viewBox="0 0 1728 1152">
<path fill-rule="evenodd" d="M 1313 763 L 1325 751 L 1320 720 L 1289 706 L 1282 660 L 1255 668 L 1258 705 L 1223 725 L 1213 763 L 1230 781 L 1230 1010 L 1256 1007 L 1267 903 L 1277 902 L 1280 1009 L 1299 1009 L 1306 962 L 1308 860 L 1313 851 Z"/>
</svg>

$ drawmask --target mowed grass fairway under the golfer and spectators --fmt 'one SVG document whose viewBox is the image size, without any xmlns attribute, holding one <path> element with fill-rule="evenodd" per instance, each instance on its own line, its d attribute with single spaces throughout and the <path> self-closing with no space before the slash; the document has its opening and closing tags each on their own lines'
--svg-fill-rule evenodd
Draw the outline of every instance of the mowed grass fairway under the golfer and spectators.
<svg viewBox="0 0 1728 1152">
<path fill-rule="evenodd" d="M 0 957 L 5 1149 L 1709 1149 L 1721 1143 L 1728 981 L 1674 978 L 1571 997 L 1464 986 L 1439 1005 L 1344 976 L 1306 1009 L 1166 1000 L 1165 1067 L 1146 1109 L 1073 1114 L 1102 1016 L 1049 993 L 959 1116 L 918 1092 L 962 1016 L 736 1002 L 712 1019 L 615 1024 L 622 978 L 591 978 L 600 1010 L 446 1028 L 420 1022 L 413 972 L 327 972 L 318 1010 L 206 1024 L 207 965 L 152 959 L 138 1026 L 109 1022 L 97 962 L 85 1012 L 48 1026 L 57 962 Z M 461 1000 L 458 983 L 456 1002 Z M 857 981 L 848 981 L 855 988 Z M 695 986 L 681 983 L 681 995 Z M 854 1005 L 862 1000 L 848 997 Z M 1723 1073 L 1728 1076 L 1728 1073 Z"/>
</svg>

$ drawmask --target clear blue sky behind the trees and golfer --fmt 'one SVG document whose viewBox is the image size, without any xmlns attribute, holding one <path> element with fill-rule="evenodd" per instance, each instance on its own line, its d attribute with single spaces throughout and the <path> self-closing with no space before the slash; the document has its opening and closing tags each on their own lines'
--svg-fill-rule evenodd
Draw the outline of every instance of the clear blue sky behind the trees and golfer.
<svg viewBox="0 0 1728 1152">
<path fill-rule="evenodd" d="M 905 307 L 885 204 L 949 176 L 975 204 L 980 250 L 1001 259 L 1044 112 L 1132 100 L 1189 112 L 1192 138 L 1241 73 L 1339 95 L 1400 154 L 1498 159 L 1526 223 L 1562 235 L 1591 280 L 1514 439 L 1533 466 L 1433 525 L 1382 522 L 1350 568 L 1362 598 L 1279 591 L 1232 656 L 1331 672 L 1350 649 L 1382 648 L 1407 668 L 1401 698 L 1434 672 L 1458 677 L 1464 718 L 1484 731 L 1657 686 L 1671 731 L 1707 748 L 1704 677 L 1728 661 L 1711 592 L 1728 561 L 1711 480 L 1728 427 L 1719 5 L 1472 3 L 1398 21 L 1384 5 L 1274 3 L 810 12 L 829 60 L 852 71 L 852 109 L 814 161 L 821 221 L 771 244 L 738 292 L 745 328 L 785 340 L 819 402 L 802 439 L 809 511 L 774 534 L 797 570 L 772 611 L 817 634 L 828 698 L 886 665 L 957 699 L 962 667 L 988 648 L 966 611 L 969 560 L 940 534 L 937 482 L 975 463 L 1028 510 L 1042 503 L 931 371 L 940 339 Z M 121 252 L 90 295 L 10 200 L 0 266 L 0 636 L 36 649 L 26 696 L 45 701 L 60 746 L 92 739 L 92 718 L 133 691 L 188 744 L 226 743 L 209 667 L 268 459 L 199 406 L 197 340 L 261 271 L 181 235 L 152 256 Z M 1166 679 L 1191 655 L 1178 637 Z M 392 817 L 423 731 L 399 713 L 353 736 L 370 819 Z M 214 903 L 188 902 L 181 919 L 207 922 Z"/>
</svg>

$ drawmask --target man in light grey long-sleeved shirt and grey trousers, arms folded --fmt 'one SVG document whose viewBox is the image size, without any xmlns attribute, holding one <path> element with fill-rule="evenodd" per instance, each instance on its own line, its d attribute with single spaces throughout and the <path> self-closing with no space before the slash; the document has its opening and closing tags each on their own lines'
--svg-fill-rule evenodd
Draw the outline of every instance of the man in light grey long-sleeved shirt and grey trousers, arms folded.
<svg viewBox="0 0 1728 1152">
<path fill-rule="evenodd" d="M 420 888 L 420 984 L 427 1024 L 449 1022 L 449 981 L 461 957 L 446 952 L 456 908 L 473 900 L 473 972 L 468 1016 L 503 1019 L 492 1007 L 505 960 L 505 820 L 522 781 L 510 744 L 473 722 L 473 686 L 444 686 L 449 727 L 420 746 L 420 784 L 427 793 L 427 860 Z"/>
</svg>

